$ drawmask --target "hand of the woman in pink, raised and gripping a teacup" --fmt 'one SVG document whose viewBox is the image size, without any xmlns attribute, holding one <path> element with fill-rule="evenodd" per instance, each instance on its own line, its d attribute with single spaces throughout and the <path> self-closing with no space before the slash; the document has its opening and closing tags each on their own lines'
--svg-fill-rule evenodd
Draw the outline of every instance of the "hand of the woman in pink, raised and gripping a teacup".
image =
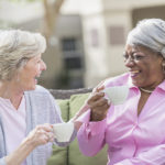
<svg viewBox="0 0 165 165">
<path fill-rule="evenodd" d="M 105 86 L 94 89 L 92 95 L 87 101 L 88 107 L 91 109 L 90 121 L 101 121 L 107 116 L 110 105 L 105 98 L 105 92 L 101 92 Z"/>
</svg>

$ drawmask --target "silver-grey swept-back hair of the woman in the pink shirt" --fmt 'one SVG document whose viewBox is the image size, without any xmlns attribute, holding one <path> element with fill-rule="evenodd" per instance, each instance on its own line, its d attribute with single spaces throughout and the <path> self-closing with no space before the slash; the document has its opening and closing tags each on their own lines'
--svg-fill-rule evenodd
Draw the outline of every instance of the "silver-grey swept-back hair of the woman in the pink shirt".
<svg viewBox="0 0 165 165">
<path fill-rule="evenodd" d="M 148 47 L 165 58 L 165 21 L 161 19 L 140 21 L 129 33 L 127 44 Z"/>
</svg>

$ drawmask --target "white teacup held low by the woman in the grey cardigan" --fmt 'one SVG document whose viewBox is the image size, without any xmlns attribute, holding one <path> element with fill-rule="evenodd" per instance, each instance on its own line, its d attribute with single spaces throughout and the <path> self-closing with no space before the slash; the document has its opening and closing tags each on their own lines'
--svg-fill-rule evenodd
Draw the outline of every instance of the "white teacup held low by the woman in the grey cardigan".
<svg viewBox="0 0 165 165">
<path fill-rule="evenodd" d="M 67 122 L 53 124 L 53 132 L 57 142 L 68 142 L 74 132 L 74 123 Z"/>
</svg>

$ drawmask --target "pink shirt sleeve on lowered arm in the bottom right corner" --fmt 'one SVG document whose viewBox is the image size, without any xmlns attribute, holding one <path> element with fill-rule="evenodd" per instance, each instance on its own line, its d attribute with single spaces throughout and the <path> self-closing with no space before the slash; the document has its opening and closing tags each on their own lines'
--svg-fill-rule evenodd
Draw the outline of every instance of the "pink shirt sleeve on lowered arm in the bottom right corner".
<svg viewBox="0 0 165 165">
<path fill-rule="evenodd" d="M 165 144 L 152 147 L 136 157 L 123 160 L 114 165 L 165 165 Z"/>
</svg>

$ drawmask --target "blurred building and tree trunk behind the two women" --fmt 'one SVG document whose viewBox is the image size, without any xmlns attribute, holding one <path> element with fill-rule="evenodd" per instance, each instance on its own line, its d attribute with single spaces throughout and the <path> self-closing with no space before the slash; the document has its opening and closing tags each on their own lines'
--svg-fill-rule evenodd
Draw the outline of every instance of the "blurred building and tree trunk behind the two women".
<svg viewBox="0 0 165 165">
<path fill-rule="evenodd" d="M 127 72 L 128 32 L 147 18 L 165 20 L 164 0 L 0 0 L 0 29 L 41 32 L 45 88 L 94 87 Z"/>
</svg>

